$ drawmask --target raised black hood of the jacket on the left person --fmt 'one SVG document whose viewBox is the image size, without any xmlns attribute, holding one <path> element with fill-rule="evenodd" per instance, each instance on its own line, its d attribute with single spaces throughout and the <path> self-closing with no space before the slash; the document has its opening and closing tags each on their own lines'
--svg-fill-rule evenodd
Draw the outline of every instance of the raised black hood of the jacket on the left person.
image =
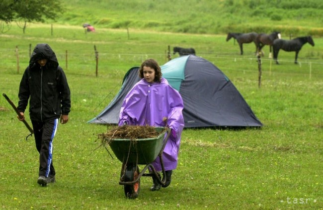
<svg viewBox="0 0 323 210">
<path fill-rule="evenodd" d="M 47 63 L 58 67 L 58 61 L 52 48 L 48 44 L 37 44 L 31 54 L 29 66 L 33 66 L 38 60 L 47 59 Z M 47 65 L 47 64 L 46 64 Z"/>
</svg>

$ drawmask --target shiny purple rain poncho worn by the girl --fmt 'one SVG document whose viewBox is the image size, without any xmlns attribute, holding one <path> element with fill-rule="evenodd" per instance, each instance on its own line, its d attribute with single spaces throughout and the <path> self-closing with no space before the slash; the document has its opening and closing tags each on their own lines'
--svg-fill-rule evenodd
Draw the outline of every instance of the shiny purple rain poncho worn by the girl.
<svg viewBox="0 0 323 210">
<path fill-rule="evenodd" d="M 161 83 L 148 83 L 140 80 L 128 93 L 120 110 L 119 126 L 125 122 L 129 125 L 151 125 L 164 127 L 163 117 L 172 132 L 162 153 L 165 171 L 176 169 L 180 137 L 184 127 L 182 114 L 183 100 L 166 79 Z M 161 171 L 160 158 L 152 163 L 156 171 Z"/>
</svg>

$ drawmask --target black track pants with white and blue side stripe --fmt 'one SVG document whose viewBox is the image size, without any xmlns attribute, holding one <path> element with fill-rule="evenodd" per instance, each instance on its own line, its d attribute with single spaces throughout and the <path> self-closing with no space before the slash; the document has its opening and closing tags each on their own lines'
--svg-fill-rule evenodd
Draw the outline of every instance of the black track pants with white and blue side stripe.
<svg viewBox="0 0 323 210">
<path fill-rule="evenodd" d="M 47 122 L 32 121 L 32 126 L 36 148 L 39 152 L 39 176 L 53 176 L 55 175 L 52 160 L 53 139 L 56 134 L 58 119 Z"/>
</svg>

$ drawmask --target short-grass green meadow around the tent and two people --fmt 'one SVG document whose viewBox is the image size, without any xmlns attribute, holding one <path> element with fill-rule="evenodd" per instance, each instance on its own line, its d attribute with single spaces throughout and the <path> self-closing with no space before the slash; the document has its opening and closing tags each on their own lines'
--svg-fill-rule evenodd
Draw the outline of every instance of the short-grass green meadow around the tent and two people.
<svg viewBox="0 0 323 210">
<path fill-rule="evenodd" d="M 0 98 L 0 209 L 323 209 L 323 39 L 294 53 L 280 52 L 280 65 L 264 47 L 262 81 L 254 45 L 243 56 L 225 34 L 196 35 L 144 30 L 31 24 L 0 34 L 0 91 L 15 104 L 29 61 L 29 44 L 47 42 L 66 72 L 72 94 L 70 121 L 54 140 L 57 183 L 39 187 L 38 154 L 28 130 Z M 95 76 L 94 45 L 99 52 Z M 136 200 L 118 184 L 121 162 L 99 146 L 104 125 L 86 123 L 118 93 L 124 74 L 146 58 L 160 65 L 168 45 L 194 47 L 240 91 L 261 129 L 185 129 L 178 168 L 168 188 L 150 192 L 141 179 Z M 18 46 L 19 72 L 16 46 Z M 66 55 L 68 55 L 66 62 Z M 172 55 L 177 57 L 177 55 Z M 27 115 L 27 121 L 29 121 Z M 97 149 L 96 149 L 97 148 Z"/>
</svg>

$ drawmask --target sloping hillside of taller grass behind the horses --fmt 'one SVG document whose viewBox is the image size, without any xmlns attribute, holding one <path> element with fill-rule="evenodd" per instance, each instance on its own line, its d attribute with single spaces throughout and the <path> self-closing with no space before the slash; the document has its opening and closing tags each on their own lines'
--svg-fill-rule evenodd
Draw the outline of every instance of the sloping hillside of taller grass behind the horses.
<svg viewBox="0 0 323 210">
<path fill-rule="evenodd" d="M 321 0 L 63 0 L 58 23 L 223 34 L 323 35 Z"/>
</svg>

